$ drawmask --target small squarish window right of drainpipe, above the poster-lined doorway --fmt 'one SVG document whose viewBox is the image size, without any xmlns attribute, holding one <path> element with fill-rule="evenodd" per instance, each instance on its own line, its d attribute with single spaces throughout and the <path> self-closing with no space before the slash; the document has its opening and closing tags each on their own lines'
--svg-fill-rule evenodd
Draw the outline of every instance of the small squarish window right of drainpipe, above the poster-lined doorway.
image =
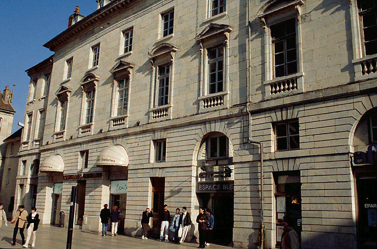
<svg viewBox="0 0 377 249">
<path fill-rule="evenodd" d="M 300 148 L 298 120 L 276 123 L 274 125 L 275 149 L 293 150 Z"/>
</svg>

